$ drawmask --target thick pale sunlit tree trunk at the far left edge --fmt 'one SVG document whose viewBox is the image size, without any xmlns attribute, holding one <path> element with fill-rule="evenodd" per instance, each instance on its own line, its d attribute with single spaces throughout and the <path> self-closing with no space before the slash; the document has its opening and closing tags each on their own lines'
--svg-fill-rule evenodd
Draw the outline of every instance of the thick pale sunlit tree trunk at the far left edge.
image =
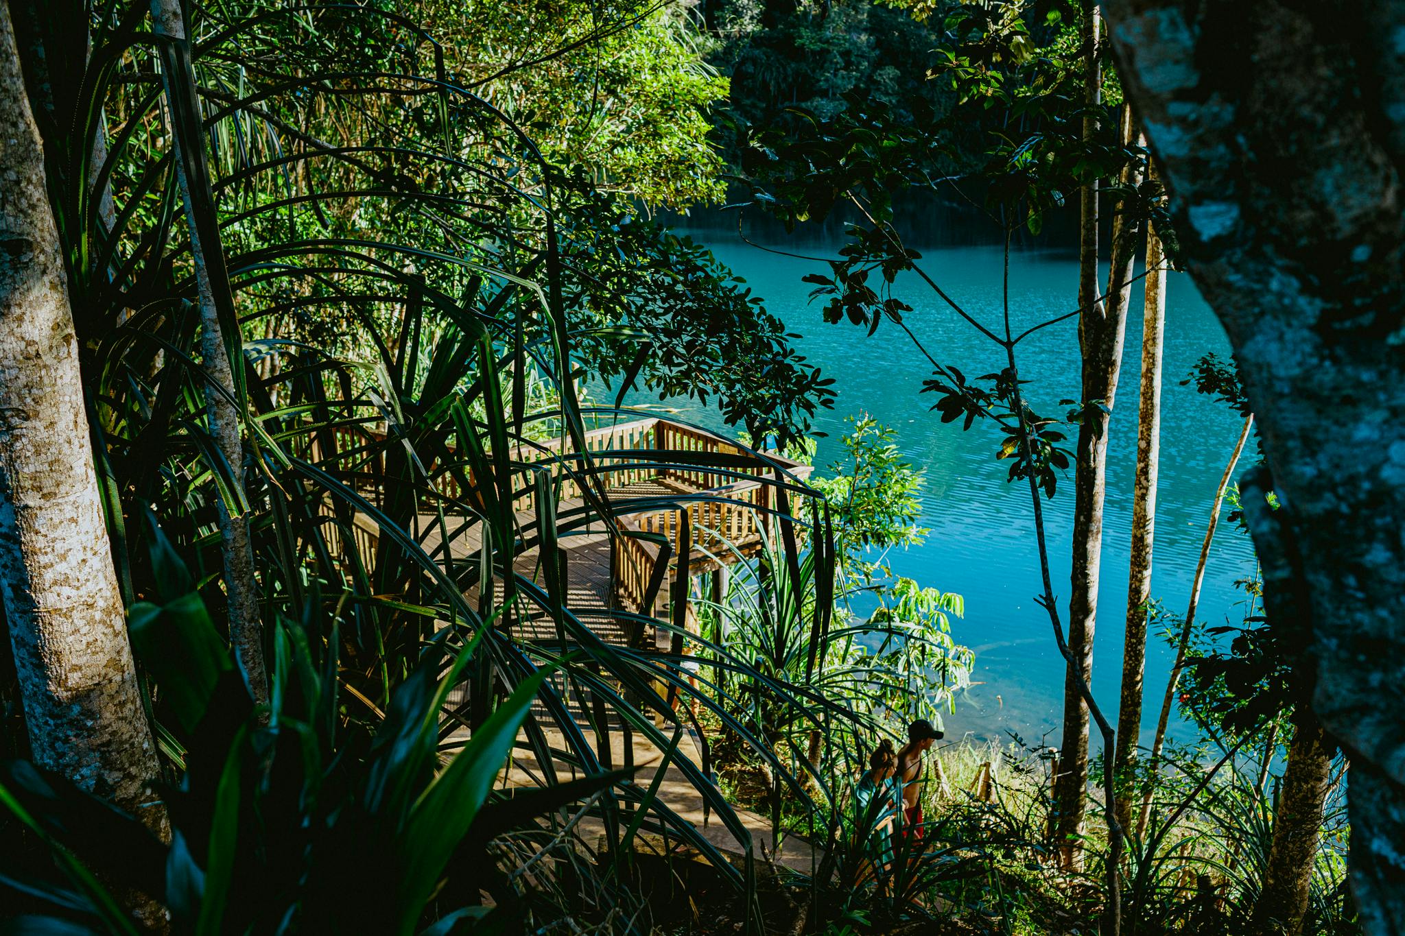
<svg viewBox="0 0 1405 936">
<path fill-rule="evenodd" d="M 44 152 L 0 3 L 0 598 L 35 763 L 126 808 L 156 749 L 136 685 Z"/>
</svg>

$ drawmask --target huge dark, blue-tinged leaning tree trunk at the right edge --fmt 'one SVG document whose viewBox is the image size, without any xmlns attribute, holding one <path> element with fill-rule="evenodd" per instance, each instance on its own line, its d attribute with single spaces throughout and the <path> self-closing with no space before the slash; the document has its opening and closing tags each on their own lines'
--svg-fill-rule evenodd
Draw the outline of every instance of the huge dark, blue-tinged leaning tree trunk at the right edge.
<svg viewBox="0 0 1405 936">
<path fill-rule="evenodd" d="M 1109 18 L 1259 420 L 1280 508 L 1250 528 L 1352 759 L 1356 905 L 1366 932 L 1401 933 L 1405 6 L 1109 0 Z"/>
</svg>

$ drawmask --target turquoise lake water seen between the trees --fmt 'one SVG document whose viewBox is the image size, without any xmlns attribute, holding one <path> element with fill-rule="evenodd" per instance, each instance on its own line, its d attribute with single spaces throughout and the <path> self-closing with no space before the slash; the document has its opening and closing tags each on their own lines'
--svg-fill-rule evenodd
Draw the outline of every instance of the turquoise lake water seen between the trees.
<svg viewBox="0 0 1405 936">
<path fill-rule="evenodd" d="M 726 225 L 731 225 L 731 230 Z M 735 220 L 695 225 L 690 232 L 717 257 L 745 276 L 798 340 L 802 352 L 836 379 L 836 407 L 819 418 L 828 438 L 819 443 L 816 466 L 839 456 L 844 417 L 867 411 L 898 431 L 898 445 L 926 469 L 919 523 L 930 529 L 922 546 L 894 553 L 901 575 L 954 591 L 965 598 L 965 617 L 953 620 L 953 634 L 975 651 L 972 685 L 946 718 L 948 737 L 972 733 L 1007 741 L 1020 734 L 1030 744 L 1058 744 L 1062 718 L 1064 664 L 1058 657 L 1047 615 L 1034 603 L 1040 589 L 1038 553 L 1024 483 L 1006 483 L 1006 466 L 993 457 L 993 427 L 941 424 L 930 411 L 933 396 L 920 394 L 930 366 L 891 323 L 874 337 L 843 323 L 826 324 L 821 307 L 808 300 L 809 272 L 828 272 L 809 260 L 766 253 L 740 240 Z M 962 229 L 964 230 L 964 229 Z M 760 237 L 760 236 L 756 236 Z M 753 237 L 754 239 L 754 237 Z M 992 244 L 961 243 L 969 237 L 936 232 L 919 250 L 923 268 L 986 327 L 999 331 L 1002 250 Z M 771 233 L 767 246 L 809 255 L 833 255 L 836 237 L 804 240 Z M 1104 274 L 1106 282 L 1106 274 Z M 1003 349 L 962 321 L 916 275 L 898 279 L 898 295 L 913 307 L 906 321 L 929 352 L 958 366 L 968 377 L 1000 370 Z M 1138 372 L 1141 355 L 1141 295 L 1127 324 L 1123 377 L 1116 400 L 1107 470 L 1103 532 L 1103 570 L 1094 641 L 1093 692 L 1109 717 L 1117 709 L 1121 682 L 1123 623 L 1127 608 L 1127 553 L 1131 539 L 1131 497 L 1137 448 Z M 1071 312 L 1078 299 L 1078 267 L 1072 251 L 1050 247 L 1019 250 L 1010 267 L 1012 317 L 1016 333 Z M 1161 477 L 1156 507 L 1156 544 L 1152 595 L 1168 610 L 1184 615 L 1190 581 L 1204 539 L 1215 486 L 1238 439 L 1241 420 L 1227 406 L 1180 386 L 1205 352 L 1228 356 L 1224 330 L 1194 290 L 1190 278 L 1173 274 L 1166 300 L 1165 385 L 1162 392 Z M 1020 345 L 1020 373 L 1035 410 L 1062 414 L 1062 399 L 1079 396 L 1076 319 L 1037 333 Z M 634 403 L 648 397 L 635 396 Z M 653 401 L 658 406 L 658 401 Z M 679 406 L 679 415 L 721 428 L 714 413 Z M 1075 435 L 1071 432 L 1071 436 Z M 1072 439 L 1069 443 L 1072 448 Z M 1246 459 L 1252 459 L 1252 449 Z M 1241 463 L 1241 470 L 1245 466 Z M 1068 620 L 1069 536 L 1072 529 L 1072 473 L 1061 479 L 1052 501 L 1045 501 L 1054 588 Z M 1248 536 L 1221 522 L 1200 599 L 1201 620 L 1235 623 L 1243 616 L 1243 592 L 1235 580 L 1253 573 Z M 1173 653 L 1152 639 L 1148 648 L 1144 742 L 1155 730 Z M 1180 733 L 1177 733 L 1180 734 Z"/>
</svg>

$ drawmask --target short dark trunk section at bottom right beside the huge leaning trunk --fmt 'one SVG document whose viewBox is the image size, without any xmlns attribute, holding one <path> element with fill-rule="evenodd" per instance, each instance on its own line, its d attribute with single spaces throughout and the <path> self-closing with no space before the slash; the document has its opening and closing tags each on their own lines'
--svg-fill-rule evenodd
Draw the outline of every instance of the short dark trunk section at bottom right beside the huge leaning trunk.
<svg viewBox="0 0 1405 936">
<path fill-rule="evenodd" d="M 1302 929 L 1322 808 L 1332 786 L 1332 745 L 1316 716 L 1302 710 L 1294 721 L 1297 726 L 1273 821 L 1273 846 L 1263 873 L 1263 890 L 1253 905 L 1253 926 L 1263 936 L 1297 936 Z"/>
</svg>

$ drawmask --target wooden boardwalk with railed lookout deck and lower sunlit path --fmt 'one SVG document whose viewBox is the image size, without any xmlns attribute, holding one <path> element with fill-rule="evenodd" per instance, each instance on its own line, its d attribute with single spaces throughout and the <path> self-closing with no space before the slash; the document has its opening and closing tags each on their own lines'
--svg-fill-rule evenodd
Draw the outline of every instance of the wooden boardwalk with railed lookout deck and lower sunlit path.
<svg viewBox="0 0 1405 936">
<path fill-rule="evenodd" d="M 679 575 L 697 577 L 717 573 L 728 564 L 756 556 L 769 536 L 773 484 L 784 473 L 790 483 L 804 481 L 809 466 L 788 459 L 769 456 L 750 473 L 740 470 L 702 470 L 683 467 L 693 452 L 738 455 L 738 448 L 721 436 L 680 427 L 666 420 L 642 420 L 596 429 L 586 435 L 587 448 L 604 463 L 604 498 L 608 512 L 600 515 L 587 509 L 587 501 L 569 477 L 556 474 L 559 497 L 554 515 L 562 518 L 558 526 L 558 546 L 565 560 L 565 606 L 607 644 L 634 646 L 641 651 L 669 651 L 676 646 L 672 630 L 655 627 L 653 633 L 639 631 L 638 616 L 667 620 L 669 596 L 674 594 Z M 524 469 L 555 456 L 559 443 L 534 445 L 514 450 L 514 464 Z M 660 459 L 660 453 L 665 456 Z M 676 453 L 669 457 L 667 453 Z M 642 457 L 642 456 L 651 457 Z M 554 469 L 554 473 L 556 469 Z M 457 484 L 444 494 L 459 498 Z M 524 543 L 537 543 L 538 505 L 534 494 L 524 494 L 514 504 L 516 532 Z M 378 528 L 367 515 L 358 515 L 357 540 L 362 554 L 375 549 Z M 482 525 L 476 518 L 448 515 L 443 526 L 438 514 L 422 511 L 410 530 L 420 547 L 441 567 L 464 568 L 481 563 L 483 546 Z M 445 550 L 447 540 L 447 550 Z M 447 553 L 447 554 L 445 554 Z M 681 557 L 687 556 L 686 566 Z M 447 561 L 445 561 L 447 560 Z M 532 544 L 513 559 L 513 571 L 542 589 L 542 550 Z M 478 585 L 465 598 L 478 603 Z M 707 594 L 704 591 L 702 594 Z M 691 596 L 691 589 L 688 589 Z M 635 617 L 621 616 L 628 612 Z M 695 633 L 691 603 L 684 609 L 686 627 Z M 511 633 L 527 643 L 555 643 L 559 640 L 556 622 L 541 609 L 516 615 Z M 558 686 L 565 689 L 565 686 Z M 451 696 L 451 703 L 454 696 Z M 586 711 L 589 699 L 568 693 L 568 710 L 576 717 L 580 731 L 596 745 Z M 659 717 L 663 717 L 659 713 Z M 613 763 L 632 762 L 638 770 L 634 782 L 648 789 L 662 762 L 662 752 L 632 731 L 621 731 L 618 723 L 610 726 Z M 572 758 L 566 756 L 563 737 L 547 731 L 554 751 L 552 768 L 558 776 L 570 777 Z M 450 735 L 445 749 L 461 744 L 459 733 Z M 628 752 L 624 745 L 629 745 Z M 618 748 L 618 749 L 615 749 Z M 603 754 L 603 752 L 601 752 Z M 701 763 L 691 733 L 684 734 L 679 756 L 694 765 Z M 504 786 L 540 786 L 542 765 L 537 763 L 525 737 L 518 740 L 513 761 L 500 776 Z M 702 794 L 677 766 L 667 766 L 659 780 L 659 798 L 681 821 L 695 827 L 704 838 L 726 855 L 740 855 L 742 843 L 715 815 L 704 808 Z M 756 843 L 776 855 L 781 864 L 809 871 L 815 855 L 809 846 L 791 839 L 777 853 L 770 822 L 759 815 L 738 810 L 738 817 Z M 587 825 L 587 832 L 589 832 Z M 663 848 L 672 848 L 667 842 Z"/>
</svg>

